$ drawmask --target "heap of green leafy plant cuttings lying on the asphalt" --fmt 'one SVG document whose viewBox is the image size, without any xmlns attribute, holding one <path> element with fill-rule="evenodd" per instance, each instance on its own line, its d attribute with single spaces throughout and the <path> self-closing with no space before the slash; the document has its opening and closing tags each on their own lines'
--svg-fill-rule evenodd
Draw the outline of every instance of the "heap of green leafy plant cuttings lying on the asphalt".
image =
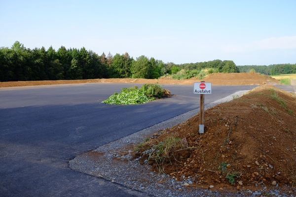
<svg viewBox="0 0 296 197">
<path fill-rule="evenodd" d="M 156 84 L 145 84 L 139 89 L 137 86 L 123 88 L 120 93 L 114 93 L 104 100 L 106 104 L 141 104 L 168 96 L 167 90 Z"/>
</svg>

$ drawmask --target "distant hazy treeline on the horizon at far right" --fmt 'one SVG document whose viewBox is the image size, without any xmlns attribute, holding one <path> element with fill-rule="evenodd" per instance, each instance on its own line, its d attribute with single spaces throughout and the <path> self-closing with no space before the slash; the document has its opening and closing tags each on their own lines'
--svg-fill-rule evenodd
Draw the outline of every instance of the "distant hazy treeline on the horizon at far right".
<svg viewBox="0 0 296 197">
<path fill-rule="evenodd" d="M 279 75 L 279 74 L 295 74 L 296 64 L 279 64 L 269 66 L 237 66 L 240 72 L 250 72 L 255 70 L 261 74 Z"/>
</svg>

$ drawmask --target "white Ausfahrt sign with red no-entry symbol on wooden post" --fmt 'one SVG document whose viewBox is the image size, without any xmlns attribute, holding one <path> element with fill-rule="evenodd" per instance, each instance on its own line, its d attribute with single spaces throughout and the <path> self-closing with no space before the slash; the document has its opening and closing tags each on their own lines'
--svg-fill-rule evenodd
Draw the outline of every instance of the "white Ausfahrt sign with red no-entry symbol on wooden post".
<svg viewBox="0 0 296 197">
<path fill-rule="evenodd" d="M 194 83 L 194 94 L 200 94 L 199 103 L 199 133 L 204 133 L 205 122 L 205 94 L 212 94 L 212 84 L 201 81 L 200 83 Z"/>
</svg>

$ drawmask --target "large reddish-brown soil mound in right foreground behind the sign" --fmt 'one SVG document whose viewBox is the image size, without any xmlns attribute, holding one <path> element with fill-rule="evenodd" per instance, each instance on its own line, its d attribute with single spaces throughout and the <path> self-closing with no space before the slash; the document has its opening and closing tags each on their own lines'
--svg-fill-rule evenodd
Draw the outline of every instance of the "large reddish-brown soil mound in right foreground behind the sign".
<svg viewBox="0 0 296 197">
<path fill-rule="evenodd" d="M 135 158 L 191 186 L 258 189 L 296 186 L 296 97 L 274 87 L 251 93 L 161 131 Z"/>
</svg>

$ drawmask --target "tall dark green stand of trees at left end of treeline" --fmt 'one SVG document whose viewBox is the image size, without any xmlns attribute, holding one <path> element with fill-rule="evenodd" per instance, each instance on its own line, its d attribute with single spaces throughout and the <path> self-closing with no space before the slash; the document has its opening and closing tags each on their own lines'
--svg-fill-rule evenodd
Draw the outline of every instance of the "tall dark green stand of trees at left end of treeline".
<svg viewBox="0 0 296 197">
<path fill-rule="evenodd" d="M 101 57 L 85 48 L 27 49 L 18 41 L 0 49 L 0 80 L 58 80 L 106 77 Z"/>
</svg>

